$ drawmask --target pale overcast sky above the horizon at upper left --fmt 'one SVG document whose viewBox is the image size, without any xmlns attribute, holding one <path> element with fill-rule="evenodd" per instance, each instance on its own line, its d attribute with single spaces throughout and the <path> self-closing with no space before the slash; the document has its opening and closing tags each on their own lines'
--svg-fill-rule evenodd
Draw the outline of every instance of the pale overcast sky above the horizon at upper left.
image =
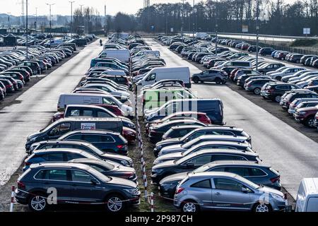
<svg viewBox="0 0 318 226">
<path fill-rule="evenodd" d="M 14 16 L 20 16 L 22 13 L 21 1 L 22 0 L 0 0 L 0 13 L 11 13 Z M 193 3 L 192 0 L 185 1 L 191 4 Z M 292 1 L 295 0 L 285 0 L 285 2 Z M 35 8 L 37 8 L 37 15 L 48 15 L 49 6 L 46 5 L 47 3 L 55 4 L 52 6 L 52 14 L 71 15 L 71 4 L 68 0 L 28 0 L 28 2 L 28 12 L 30 15 L 35 15 Z M 169 2 L 176 3 L 182 2 L 182 0 L 151 0 L 151 4 Z M 97 8 L 101 15 L 104 14 L 104 6 L 106 4 L 107 14 L 114 15 L 119 11 L 124 13 L 136 13 L 139 8 L 143 7 L 143 0 L 77 0 L 73 3 L 73 8 L 79 8 L 81 4 Z"/>
</svg>

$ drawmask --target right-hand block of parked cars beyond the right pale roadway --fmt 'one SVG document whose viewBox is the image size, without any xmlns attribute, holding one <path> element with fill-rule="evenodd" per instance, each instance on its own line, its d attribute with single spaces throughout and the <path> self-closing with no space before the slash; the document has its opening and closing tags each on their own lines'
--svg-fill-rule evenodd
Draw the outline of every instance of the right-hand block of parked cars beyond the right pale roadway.
<svg viewBox="0 0 318 226">
<path fill-rule="evenodd" d="M 218 84 L 232 81 L 239 87 L 261 95 L 266 100 L 278 102 L 295 121 L 305 126 L 318 127 L 318 71 L 303 66 L 285 65 L 270 61 L 264 56 L 271 56 L 279 61 L 316 67 L 317 56 L 287 53 L 269 47 L 259 49 L 259 57 L 249 55 L 256 52 L 242 40 L 208 38 L 211 42 L 192 40 L 177 36 L 171 42 L 169 37 L 159 37 L 169 48 L 189 60 L 203 64 L 206 71 L 192 75 L 194 83 L 215 82 Z M 216 49 L 216 44 L 218 47 Z M 236 49 L 247 52 L 237 52 Z M 284 54 L 284 57 L 282 57 Z M 309 63 L 311 62 L 311 63 Z"/>
</svg>

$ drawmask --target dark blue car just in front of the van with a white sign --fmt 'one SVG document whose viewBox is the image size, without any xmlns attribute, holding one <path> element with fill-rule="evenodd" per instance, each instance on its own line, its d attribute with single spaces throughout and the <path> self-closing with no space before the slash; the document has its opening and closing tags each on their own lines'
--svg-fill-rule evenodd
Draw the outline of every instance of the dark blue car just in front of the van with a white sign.
<svg viewBox="0 0 318 226">
<path fill-rule="evenodd" d="M 127 155 L 126 139 L 120 133 L 112 131 L 73 131 L 61 136 L 59 141 L 86 141 L 106 153 Z"/>
</svg>

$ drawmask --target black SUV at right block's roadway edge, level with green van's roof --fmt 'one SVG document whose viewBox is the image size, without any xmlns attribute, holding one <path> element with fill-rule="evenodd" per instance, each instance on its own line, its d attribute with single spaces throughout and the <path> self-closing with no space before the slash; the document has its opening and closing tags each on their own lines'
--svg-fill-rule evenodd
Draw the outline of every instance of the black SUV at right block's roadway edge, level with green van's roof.
<svg viewBox="0 0 318 226">
<path fill-rule="evenodd" d="M 293 89 L 299 89 L 298 85 L 288 83 L 272 83 L 266 87 L 263 97 L 279 103 L 281 102 L 281 96 L 284 95 L 285 92 Z"/>
</svg>

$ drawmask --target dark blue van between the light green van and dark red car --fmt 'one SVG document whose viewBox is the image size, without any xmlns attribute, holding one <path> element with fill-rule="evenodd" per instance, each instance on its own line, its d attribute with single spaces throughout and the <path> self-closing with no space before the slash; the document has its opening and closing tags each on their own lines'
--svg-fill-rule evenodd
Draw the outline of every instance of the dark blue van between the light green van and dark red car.
<svg viewBox="0 0 318 226">
<path fill-rule="evenodd" d="M 175 112 L 203 112 L 212 124 L 223 125 L 223 102 L 220 99 L 179 99 L 170 100 L 158 109 L 145 112 L 146 121 L 163 119 Z"/>
</svg>

